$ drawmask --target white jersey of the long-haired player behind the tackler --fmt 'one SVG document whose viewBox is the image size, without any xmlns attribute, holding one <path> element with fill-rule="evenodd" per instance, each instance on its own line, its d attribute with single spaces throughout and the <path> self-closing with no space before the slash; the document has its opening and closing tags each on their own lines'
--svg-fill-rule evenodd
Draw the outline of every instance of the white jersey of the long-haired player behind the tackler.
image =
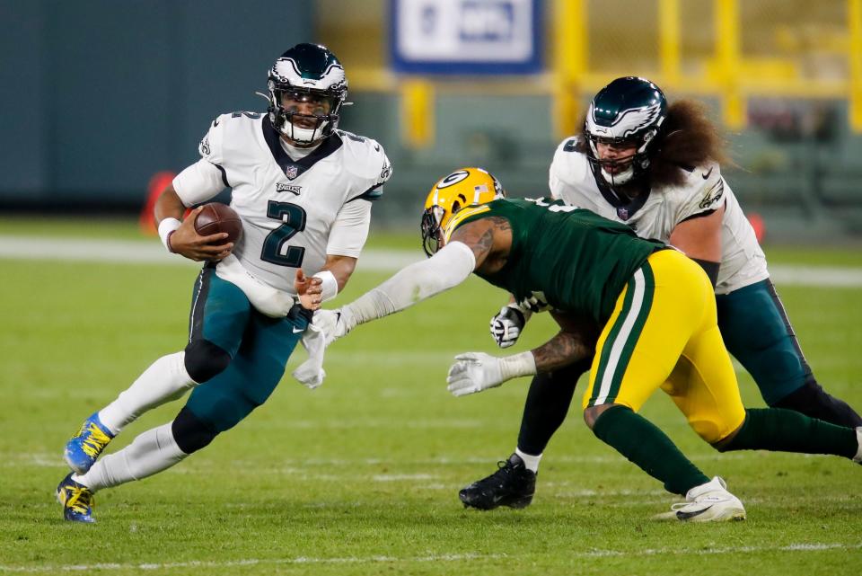
<svg viewBox="0 0 862 576">
<path fill-rule="evenodd" d="M 766 256 L 718 164 L 697 166 L 690 173 L 686 171 L 681 186 L 654 189 L 646 199 L 617 208 L 604 198 L 589 160 L 575 151 L 575 145 L 576 137 L 563 140 L 550 164 L 550 193 L 555 199 L 627 224 L 642 238 L 663 242 L 668 242 L 673 228 L 683 220 L 721 208 L 724 203 L 716 294 L 727 294 L 769 278 Z"/>
</svg>

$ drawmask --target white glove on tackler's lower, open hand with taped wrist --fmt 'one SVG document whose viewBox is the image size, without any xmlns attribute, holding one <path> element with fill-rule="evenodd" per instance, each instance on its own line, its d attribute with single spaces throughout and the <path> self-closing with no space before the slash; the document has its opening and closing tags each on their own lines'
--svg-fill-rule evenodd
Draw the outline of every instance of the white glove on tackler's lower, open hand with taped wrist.
<svg viewBox="0 0 862 576">
<path fill-rule="evenodd" d="M 495 388 L 506 380 L 536 373 L 532 352 L 497 358 L 484 352 L 468 352 L 455 357 L 449 368 L 446 389 L 455 396 L 475 394 Z"/>
</svg>

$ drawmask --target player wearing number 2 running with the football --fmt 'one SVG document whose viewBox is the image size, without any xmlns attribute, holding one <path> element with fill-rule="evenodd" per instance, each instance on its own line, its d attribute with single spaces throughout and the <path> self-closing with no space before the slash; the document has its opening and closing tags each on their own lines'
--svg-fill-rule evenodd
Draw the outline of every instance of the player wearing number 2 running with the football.
<svg viewBox="0 0 862 576">
<path fill-rule="evenodd" d="M 287 50 L 269 70 L 265 97 L 267 113 L 213 120 L 201 159 L 158 199 L 167 250 L 207 261 L 193 289 L 188 344 L 157 359 L 68 441 L 73 472 L 57 486 L 67 520 L 94 521 L 94 492 L 159 473 L 242 421 L 275 389 L 303 334 L 303 344 L 322 346 L 312 309 L 353 273 L 391 165 L 373 139 L 338 129 L 347 78 L 329 49 Z M 225 187 L 242 220 L 235 245 L 226 234 L 198 235 L 199 208 L 180 222 Z M 322 379 L 316 371 L 295 376 L 310 387 Z M 173 421 L 98 459 L 138 416 L 189 390 Z"/>
</svg>

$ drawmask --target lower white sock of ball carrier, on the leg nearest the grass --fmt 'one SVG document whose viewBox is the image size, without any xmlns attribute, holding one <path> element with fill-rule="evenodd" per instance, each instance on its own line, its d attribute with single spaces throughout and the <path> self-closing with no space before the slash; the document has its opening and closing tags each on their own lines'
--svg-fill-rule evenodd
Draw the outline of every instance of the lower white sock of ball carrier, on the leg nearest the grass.
<svg viewBox="0 0 862 576">
<path fill-rule="evenodd" d="M 189 456 L 177 446 L 171 426 L 168 422 L 146 430 L 126 448 L 102 456 L 87 474 L 72 474 L 72 480 L 96 492 L 167 470 Z"/>
</svg>

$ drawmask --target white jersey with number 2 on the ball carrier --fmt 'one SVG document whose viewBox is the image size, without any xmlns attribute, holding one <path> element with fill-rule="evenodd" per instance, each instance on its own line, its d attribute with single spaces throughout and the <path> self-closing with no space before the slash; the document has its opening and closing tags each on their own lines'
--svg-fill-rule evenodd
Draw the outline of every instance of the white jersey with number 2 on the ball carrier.
<svg viewBox="0 0 862 576">
<path fill-rule="evenodd" d="M 383 146 L 342 130 L 294 161 L 268 115 L 257 112 L 216 118 L 199 152 L 198 164 L 215 165 L 224 186 L 233 189 L 231 207 L 242 218 L 233 254 L 254 277 L 291 294 L 297 268 L 310 276 L 327 254 L 359 256 L 370 221 L 368 200 L 382 196 L 391 175 Z M 202 192 L 208 198 L 217 193 L 189 190 L 207 186 L 185 184 L 200 180 L 185 177 L 186 171 L 174 187 L 187 206 L 205 199 Z M 333 231 L 357 224 L 358 235 Z"/>
</svg>

